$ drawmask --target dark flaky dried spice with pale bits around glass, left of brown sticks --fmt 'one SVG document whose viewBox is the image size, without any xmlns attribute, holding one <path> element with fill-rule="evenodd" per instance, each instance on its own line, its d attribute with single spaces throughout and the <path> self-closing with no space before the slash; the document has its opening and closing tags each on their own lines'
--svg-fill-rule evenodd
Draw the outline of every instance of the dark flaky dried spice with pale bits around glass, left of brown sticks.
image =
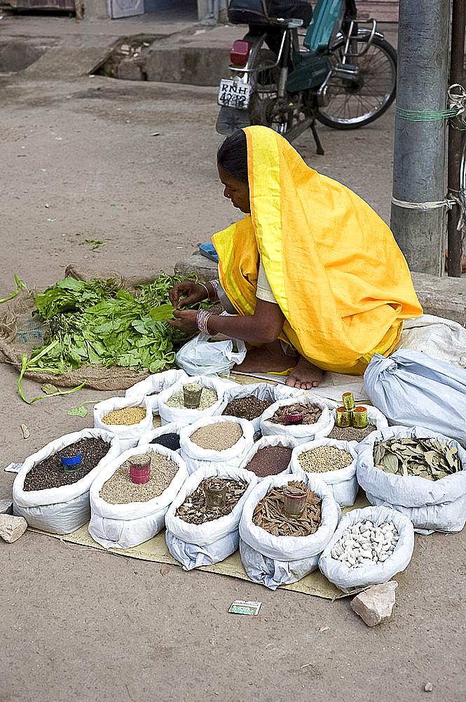
<svg viewBox="0 0 466 702">
<path fill-rule="evenodd" d="M 209 508 L 205 503 L 205 488 L 209 487 L 211 482 L 215 484 L 225 484 L 226 486 L 226 501 L 223 508 Z M 249 483 L 245 480 L 233 480 L 231 478 L 205 478 L 203 479 L 196 490 L 191 495 L 186 497 L 186 500 L 175 512 L 175 515 L 184 522 L 189 524 L 204 524 L 205 522 L 213 522 L 214 519 L 225 517 L 233 512 L 233 509 L 240 501 L 240 498 L 245 494 Z"/>
</svg>

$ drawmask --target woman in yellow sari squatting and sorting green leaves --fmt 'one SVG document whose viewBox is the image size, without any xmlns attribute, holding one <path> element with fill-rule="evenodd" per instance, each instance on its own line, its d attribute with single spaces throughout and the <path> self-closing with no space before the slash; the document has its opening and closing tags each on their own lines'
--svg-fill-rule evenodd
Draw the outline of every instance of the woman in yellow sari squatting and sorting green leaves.
<svg viewBox="0 0 466 702">
<path fill-rule="evenodd" d="M 288 373 L 287 385 L 303 389 L 322 370 L 360 375 L 374 353 L 389 355 L 403 320 L 423 310 L 388 225 L 268 127 L 228 136 L 217 167 L 246 216 L 212 237 L 218 281 L 173 286 L 169 324 L 242 339 L 235 371 Z M 182 309 L 207 296 L 235 316 Z"/>
</svg>

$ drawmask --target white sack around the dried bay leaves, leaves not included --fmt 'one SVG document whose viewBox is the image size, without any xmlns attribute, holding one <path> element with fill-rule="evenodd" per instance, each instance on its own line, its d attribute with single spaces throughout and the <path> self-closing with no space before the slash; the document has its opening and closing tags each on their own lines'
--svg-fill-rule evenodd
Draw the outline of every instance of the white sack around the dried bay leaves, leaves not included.
<svg viewBox="0 0 466 702">
<path fill-rule="evenodd" d="M 440 480 L 393 475 L 374 465 L 374 443 L 392 437 L 432 438 L 458 449 L 462 470 Z M 461 531 L 466 522 L 466 450 L 455 439 L 421 427 L 389 427 L 359 444 L 357 482 L 373 505 L 387 505 L 411 519 L 416 531 Z"/>
</svg>

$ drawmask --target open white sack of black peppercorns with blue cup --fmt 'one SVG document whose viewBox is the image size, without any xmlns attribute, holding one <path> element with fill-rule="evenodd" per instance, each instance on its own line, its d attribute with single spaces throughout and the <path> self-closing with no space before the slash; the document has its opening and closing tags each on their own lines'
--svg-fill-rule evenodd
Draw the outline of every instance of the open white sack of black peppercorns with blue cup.
<svg viewBox="0 0 466 702">
<path fill-rule="evenodd" d="M 29 527 L 71 534 L 89 521 L 89 490 L 120 453 L 118 437 L 83 429 L 54 439 L 32 453 L 13 482 L 13 512 Z"/>
</svg>

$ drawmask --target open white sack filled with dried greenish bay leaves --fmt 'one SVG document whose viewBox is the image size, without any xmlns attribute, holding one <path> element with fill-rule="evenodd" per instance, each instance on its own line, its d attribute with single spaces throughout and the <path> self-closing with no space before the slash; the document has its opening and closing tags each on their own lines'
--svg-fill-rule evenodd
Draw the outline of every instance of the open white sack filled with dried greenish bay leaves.
<svg viewBox="0 0 466 702">
<path fill-rule="evenodd" d="M 421 427 L 390 427 L 359 444 L 357 481 L 372 505 L 402 512 L 420 533 L 461 531 L 466 520 L 466 451 Z"/>
</svg>

